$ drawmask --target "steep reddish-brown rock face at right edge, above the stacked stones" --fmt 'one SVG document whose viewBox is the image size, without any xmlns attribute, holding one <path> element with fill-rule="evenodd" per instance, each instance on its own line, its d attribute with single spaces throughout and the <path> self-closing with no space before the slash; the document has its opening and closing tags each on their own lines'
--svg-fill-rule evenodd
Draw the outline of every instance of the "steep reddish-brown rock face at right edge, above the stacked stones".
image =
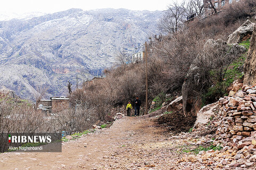
<svg viewBox="0 0 256 170">
<path fill-rule="evenodd" d="M 244 64 L 244 84 L 256 84 L 256 27 L 253 29 L 251 46 Z"/>
</svg>

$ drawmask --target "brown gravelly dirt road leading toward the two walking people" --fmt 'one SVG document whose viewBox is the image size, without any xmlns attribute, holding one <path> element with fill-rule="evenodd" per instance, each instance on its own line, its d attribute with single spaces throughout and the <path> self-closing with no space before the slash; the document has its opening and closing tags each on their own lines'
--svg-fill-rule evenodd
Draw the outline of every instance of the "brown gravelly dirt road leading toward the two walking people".
<svg viewBox="0 0 256 170">
<path fill-rule="evenodd" d="M 0 154 L 0 169 L 170 169 L 179 143 L 149 118 L 125 117 L 109 129 L 63 142 L 62 152 Z"/>
</svg>

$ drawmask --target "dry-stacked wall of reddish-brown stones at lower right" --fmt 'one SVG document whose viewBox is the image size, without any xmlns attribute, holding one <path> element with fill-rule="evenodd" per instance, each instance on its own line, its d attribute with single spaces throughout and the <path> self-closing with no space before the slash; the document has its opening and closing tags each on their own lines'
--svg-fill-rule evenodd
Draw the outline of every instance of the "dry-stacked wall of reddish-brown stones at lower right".
<svg viewBox="0 0 256 170">
<path fill-rule="evenodd" d="M 244 85 L 232 97 L 220 98 L 219 104 L 226 115 L 216 132 L 221 138 L 238 142 L 256 132 L 256 87 Z"/>
</svg>

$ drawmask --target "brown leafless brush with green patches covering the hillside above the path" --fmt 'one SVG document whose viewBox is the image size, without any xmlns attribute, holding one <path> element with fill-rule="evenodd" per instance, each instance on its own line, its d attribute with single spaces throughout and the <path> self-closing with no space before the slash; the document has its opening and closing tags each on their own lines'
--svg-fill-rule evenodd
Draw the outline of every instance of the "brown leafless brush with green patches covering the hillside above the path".
<svg viewBox="0 0 256 170">
<path fill-rule="evenodd" d="M 209 39 L 227 41 L 227 37 L 240 27 L 246 19 L 251 18 L 253 20 L 255 6 L 254 0 L 242 1 L 219 14 L 201 19 L 196 24 L 179 23 L 177 31 L 166 32 L 166 30 L 173 30 L 170 28 L 166 29 L 161 35 L 149 38 L 149 99 L 153 100 L 158 96 L 158 103 L 161 105 L 164 101 L 172 98 L 173 92 L 175 92 L 175 95 L 181 94 L 182 84 L 188 79 L 191 64 L 198 67 L 197 72 L 201 74 L 201 83 L 198 86 L 190 84 L 189 87 L 190 91 L 193 91 L 191 100 L 199 99 L 197 107 L 212 103 L 226 94 L 230 84 L 234 80 L 243 77 L 243 63 L 246 52 L 241 54 L 237 51 L 231 54 L 223 50 L 227 46 L 225 43 L 223 48 L 208 51 L 202 49 L 204 49 L 204 45 Z M 163 22 L 159 22 L 159 28 L 163 24 Z M 171 24 L 170 27 L 172 27 Z M 248 49 L 249 39 L 240 45 Z M 216 50 L 218 53 L 215 52 Z M 195 61 L 198 55 L 206 53 L 209 54 L 204 56 L 207 57 L 207 60 Z M 227 54 L 229 57 L 227 57 Z M 138 95 L 145 104 L 144 62 L 123 64 L 105 70 L 104 73 L 106 78 L 102 83 L 93 84 L 80 90 L 79 95 L 76 91 L 71 95 L 71 98 L 73 100 L 83 99 L 89 105 L 95 107 L 108 108 L 106 106 L 109 106 L 110 108 L 111 106 L 124 105 L 128 100 L 132 100 Z M 166 97 L 166 94 L 173 95 Z M 155 107 L 157 108 L 159 105 Z"/>
</svg>

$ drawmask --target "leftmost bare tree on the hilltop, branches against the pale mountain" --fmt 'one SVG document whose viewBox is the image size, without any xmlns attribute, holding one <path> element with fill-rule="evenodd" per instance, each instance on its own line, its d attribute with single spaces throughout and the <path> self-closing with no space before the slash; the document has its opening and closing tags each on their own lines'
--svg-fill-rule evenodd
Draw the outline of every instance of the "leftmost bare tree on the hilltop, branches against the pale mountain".
<svg viewBox="0 0 256 170">
<path fill-rule="evenodd" d="M 173 33 L 182 28 L 185 21 L 184 3 L 179 5 L 177 2 L 168 6 L 160 21 L 159 28 L 165 32 Z"/>
</svg>

